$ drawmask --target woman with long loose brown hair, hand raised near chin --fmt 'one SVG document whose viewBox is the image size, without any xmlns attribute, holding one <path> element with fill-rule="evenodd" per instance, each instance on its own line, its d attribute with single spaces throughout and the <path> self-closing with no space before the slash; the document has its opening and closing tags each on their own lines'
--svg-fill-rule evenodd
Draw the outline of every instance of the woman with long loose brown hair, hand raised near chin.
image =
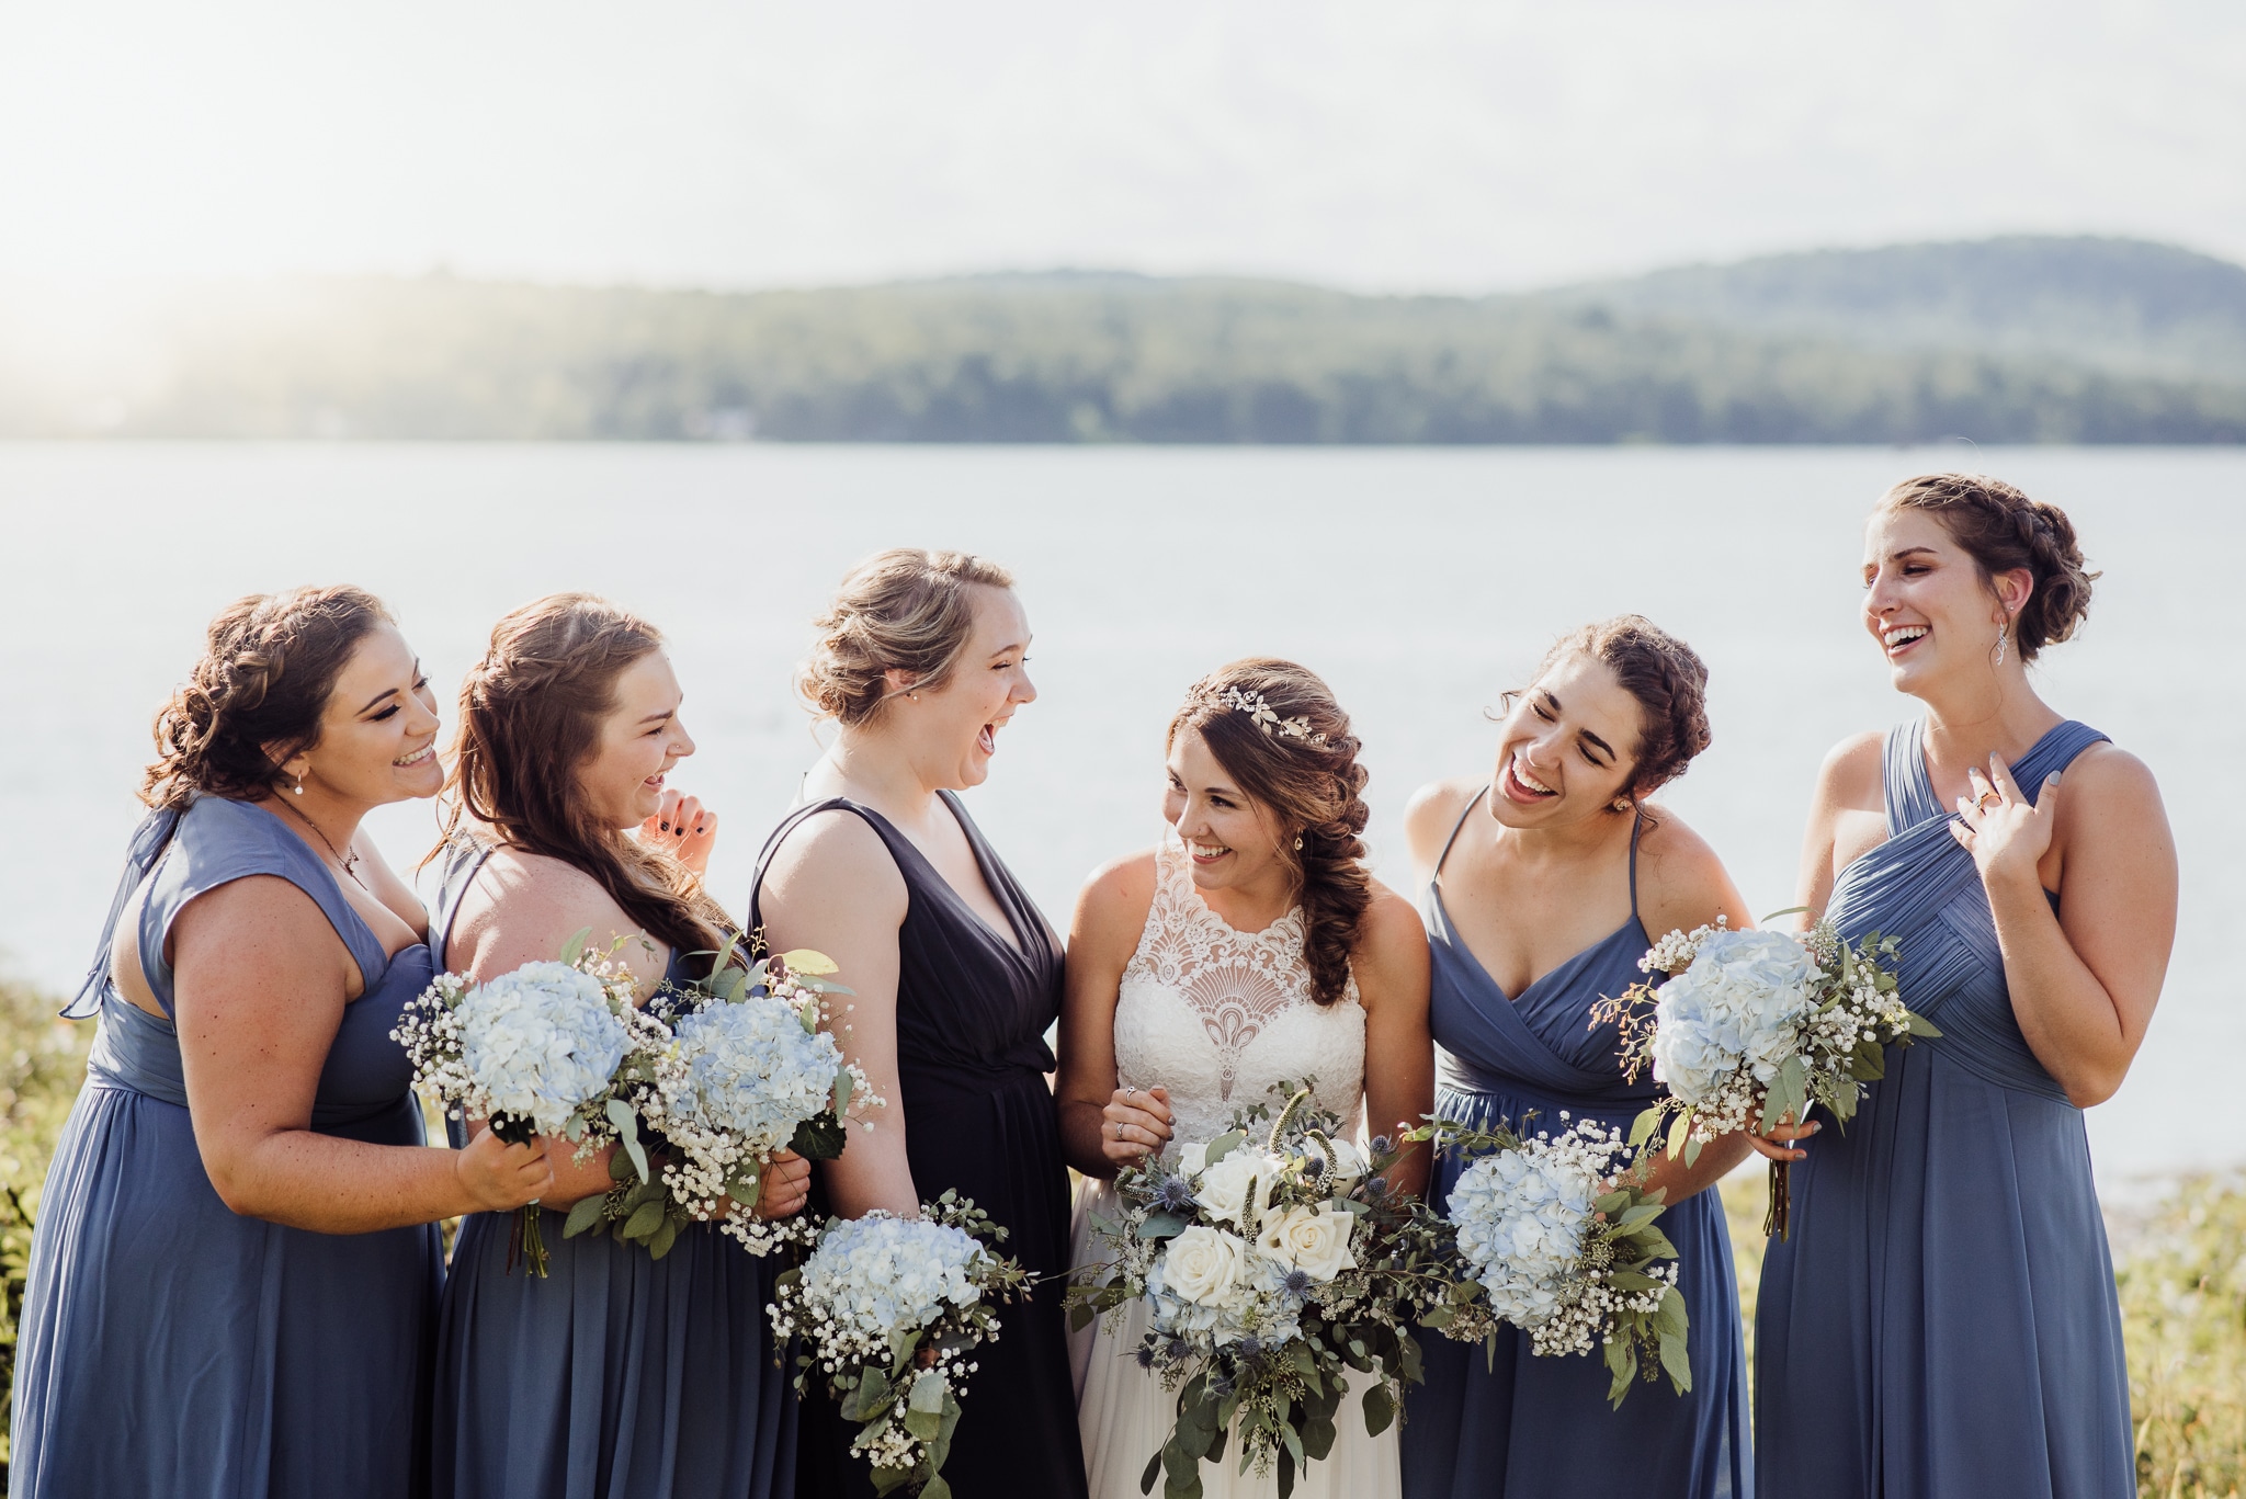
<svg viewBox="0 0 2246 1499">
<path fill-rule="evenodd" d="M 694 753 L 651 625 L 586 593 L 499 620 L 460 688 L 460 751 L 433 942 L 492 978 L 591 928 L 640 1000 L 707 971 L 730 928 L 703 894 L 716 816 L 665 789 Z M 638 836 L 631 834 L 638 829 Z M 478 1128 L 478 1139 L 485 1130 Z M 609 1189 L 606 1153 L 550 1146 L 548 1279 L 508 1265 L 512 1214 L 460 1225 L 438 1328 L 436 1486 L 463 1499 L 775 1499 L 795 1483 L 795 1398 L 764 1306 L 777 1263 L 716 1225 L 651 1259 L 564 1238 Z M 759 1211 L 802 1207 L 811 1166 L 766 1175 Z"/>
</svg>

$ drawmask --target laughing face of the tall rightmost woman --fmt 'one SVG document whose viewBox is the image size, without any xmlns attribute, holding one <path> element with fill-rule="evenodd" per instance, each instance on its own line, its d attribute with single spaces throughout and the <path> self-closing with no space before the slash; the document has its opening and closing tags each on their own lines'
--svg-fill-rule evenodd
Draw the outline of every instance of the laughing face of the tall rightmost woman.
<svg viewBox="0 0 2246 1499">
<path fill-rule="evenodd" d="M 2028 600 L 2030 573 L 1983 580 L 1972 555 L 1925 510 L 1880 508 L 1864 526 L 1864 629 L 1898 692 L 1997 670 L 1997 632 Z M 2019 670 L 2019 652 L 2006 649 Z"/>
</svg>

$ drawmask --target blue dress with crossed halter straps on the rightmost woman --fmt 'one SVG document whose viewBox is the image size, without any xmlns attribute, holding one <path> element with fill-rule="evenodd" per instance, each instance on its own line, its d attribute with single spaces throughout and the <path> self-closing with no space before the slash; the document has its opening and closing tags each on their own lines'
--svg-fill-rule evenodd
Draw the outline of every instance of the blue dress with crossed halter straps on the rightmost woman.
<svg viewBox="0 0 2246 1499">
<path fill-rule="evenodd" d="M 2091 744 L 2060 724 L 2012 778 Z M 1846 1133 L 1792 1169 L 1756 1315 L 1768 1499 L 2129 1499 L 2120 1306 L 2082 1110 L 2012 1016 L 1988 892 L 1934 800 L 1923 726 L 1887 735 L 1887 843 L 1833 885 L 1851 942 L 1900 939 L 1941 1038 L 1887 1050 Z M 2053 906 L 2057 897 L 2053 897 Z"/>
</svg>

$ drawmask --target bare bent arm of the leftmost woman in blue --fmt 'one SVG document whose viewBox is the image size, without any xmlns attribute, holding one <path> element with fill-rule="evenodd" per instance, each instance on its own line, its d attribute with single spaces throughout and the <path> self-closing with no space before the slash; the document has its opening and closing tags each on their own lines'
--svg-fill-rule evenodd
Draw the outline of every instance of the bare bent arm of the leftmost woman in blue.
<svg viewBox="0 0 2246 1499">
<path fill-rule="evenodd" d="M 377 1146 L 312 1130 L 312 1099 L 357 964 L 285 879 L 256 874 L 171 924 L 180 1070 L 195 1148 L 245 1218 L 371 1234 L 519 1207 L 553 1187 L 530 1146 Z"/>
</svg>

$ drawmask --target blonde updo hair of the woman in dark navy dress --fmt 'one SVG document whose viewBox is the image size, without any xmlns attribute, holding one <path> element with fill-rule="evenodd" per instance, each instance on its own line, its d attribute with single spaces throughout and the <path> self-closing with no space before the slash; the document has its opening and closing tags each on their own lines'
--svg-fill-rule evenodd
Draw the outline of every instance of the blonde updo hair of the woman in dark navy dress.
<svg viewBox="0 0 2246 1499">
<path fill-rule="evenodd" d="M 885 672 L 941 688 L 975 634 L 973 587 L 1011 589 L 1013 573 L 964 551 L 892 546 L 842 578 L 795 685 L 822 719 L 856 728 L 889 697 Z"/>
</svg>

